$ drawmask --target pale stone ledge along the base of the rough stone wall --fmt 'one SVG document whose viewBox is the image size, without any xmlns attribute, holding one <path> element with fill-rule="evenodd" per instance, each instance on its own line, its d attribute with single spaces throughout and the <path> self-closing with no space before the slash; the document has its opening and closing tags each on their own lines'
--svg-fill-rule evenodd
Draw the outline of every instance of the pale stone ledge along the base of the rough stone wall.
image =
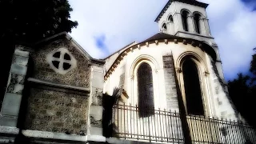
<svg viewBox="0 0 256 144">
<path fill-rule="evenodd" d="M 58 139 L 66 141 L 86 142 L 86 136 L 54 133 L 38 130 L 22 130 L 22 134 L 29 138 L 46 138 L 46 139 Z"/>
</svg>

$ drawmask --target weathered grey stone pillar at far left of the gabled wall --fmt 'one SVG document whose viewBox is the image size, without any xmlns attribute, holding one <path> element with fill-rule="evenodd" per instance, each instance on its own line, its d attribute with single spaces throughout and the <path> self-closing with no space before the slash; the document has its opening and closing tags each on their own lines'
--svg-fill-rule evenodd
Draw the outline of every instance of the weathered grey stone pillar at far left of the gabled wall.
<svg viewBox="0 0 256 144">
<path fill-rule="evenodd" d="M 0 126 L 16 127 L 22 101 L 22 90 L 26 77 L 29 52 L 16 48 L 10 68 L 10 83 L 2 102 Z"/>
</svg>

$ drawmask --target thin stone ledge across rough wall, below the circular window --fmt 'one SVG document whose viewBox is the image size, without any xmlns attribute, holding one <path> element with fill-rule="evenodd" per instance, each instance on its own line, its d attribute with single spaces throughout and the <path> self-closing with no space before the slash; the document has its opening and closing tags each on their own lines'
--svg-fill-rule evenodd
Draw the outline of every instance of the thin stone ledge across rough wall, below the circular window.
<svg viewBox="0 0 256 144">
<path fill-rule="evenodd" d="M 53 82 L 46 82 L 36 78 L 28 78 L 28 82 L 32 83 L 32 87 L 37 86 L 38 88 L 43 88 L 46 90 L 57 90 L 62 92 L 70 92 L 72 94 L 82 94 L 89 95 L 90 88 L 78 87 L 78 86 L 70 86 L 64 84 L 58 84 Z"/>
</svg>

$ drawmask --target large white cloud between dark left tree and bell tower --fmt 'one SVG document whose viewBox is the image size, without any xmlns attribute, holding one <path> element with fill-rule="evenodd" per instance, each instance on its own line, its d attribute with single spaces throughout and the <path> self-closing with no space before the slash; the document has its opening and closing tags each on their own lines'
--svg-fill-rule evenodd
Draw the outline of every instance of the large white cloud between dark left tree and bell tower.
<svg viewBox="0 0 256 144">
<path fill-rule="evenodd" d="M 71 19 L 78 28 L 71 36 L 94 58 L 105 58 L 130 42 L 142 41 L 158 33 L 154 18 L 168 0 L 70 0 Z M 97 46 L 95 36 L 105 34 L 105 48 Z"/>
</svg>

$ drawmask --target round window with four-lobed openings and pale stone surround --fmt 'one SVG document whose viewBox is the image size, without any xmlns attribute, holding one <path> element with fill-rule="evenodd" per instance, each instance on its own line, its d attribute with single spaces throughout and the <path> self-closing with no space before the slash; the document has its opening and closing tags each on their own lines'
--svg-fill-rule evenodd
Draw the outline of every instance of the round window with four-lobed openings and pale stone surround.
<svg viewBox="0 0 256 144">
<path fill-rule="evenodd" d="M 76 67 L 76 60 L 65 48 L 54 50 L 47 55 L 47 62 L 59 74 L 66 74 Z"/>
</svg>

